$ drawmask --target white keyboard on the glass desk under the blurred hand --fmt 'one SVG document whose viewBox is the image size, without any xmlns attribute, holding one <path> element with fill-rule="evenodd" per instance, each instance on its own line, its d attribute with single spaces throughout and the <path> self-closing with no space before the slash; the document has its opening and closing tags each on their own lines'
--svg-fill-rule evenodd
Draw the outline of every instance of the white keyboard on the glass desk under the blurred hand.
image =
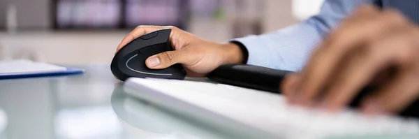
<svg viewBox="0 0 419 139">
<path fill-rule="evenodd" d="M 306 110 L 286 104 L 284 96 L 230 85 L 130 78 L 124 89 L 131 96 L 147 99 L 163 106 L 200 110 L 228 117 L 281 138 L 311 139 L 339 136 L 357 138 L 418 138 L 416 119 L 368 117 L 351 110 L 329 115 L 320 110 Z M 195 108 L 187 105 L 197 106 Z"/>
</svg>

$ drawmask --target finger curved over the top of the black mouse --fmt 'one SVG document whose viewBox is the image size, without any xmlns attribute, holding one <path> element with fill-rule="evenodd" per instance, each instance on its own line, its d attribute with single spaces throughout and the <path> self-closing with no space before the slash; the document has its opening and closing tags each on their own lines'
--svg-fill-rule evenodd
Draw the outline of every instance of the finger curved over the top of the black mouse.
<svg viewBox="0 0 419 139">
<path fill-rule="evenodd" d="M 117 52 L 122 49 L 126 44 L 130 43 L 131 41 L 135 40 L 142 35 L 148 34 L 152 31 L 160 30 L 160 29 L 168 29 L 170 27 L 159 27 L 159 26 L 138 26 L 136 27 L 131 33 L 125 36 L 122 39 L 121 43 L 119 43 L 117 47 Z"/>
</svg>

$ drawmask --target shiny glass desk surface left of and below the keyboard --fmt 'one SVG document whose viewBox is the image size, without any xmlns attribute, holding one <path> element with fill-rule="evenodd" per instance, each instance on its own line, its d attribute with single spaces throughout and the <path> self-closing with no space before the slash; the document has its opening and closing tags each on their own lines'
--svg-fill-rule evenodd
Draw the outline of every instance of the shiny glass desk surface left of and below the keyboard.
<svg viewBox="0 0 419 139">
<path fill-rule="evenodd" d="M 108 65 L 78 67 L 86 73 L 0 80 L 0 139 L 245 138 L 126 96 Z"/>
</svg>

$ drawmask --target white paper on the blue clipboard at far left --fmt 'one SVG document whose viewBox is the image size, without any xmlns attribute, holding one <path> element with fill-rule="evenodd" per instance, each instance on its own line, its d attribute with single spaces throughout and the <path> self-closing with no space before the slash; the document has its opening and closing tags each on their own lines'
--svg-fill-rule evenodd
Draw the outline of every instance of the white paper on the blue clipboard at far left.
<svg viewBox="0 0 419 139">
<path fill-rule="evenodd" d="M 66 71 L 66 67 L 45 64 L 29 60 L 0 61 L 0 75 L 17 75 L 22 73 L 50 73 Z"/>
</svg>

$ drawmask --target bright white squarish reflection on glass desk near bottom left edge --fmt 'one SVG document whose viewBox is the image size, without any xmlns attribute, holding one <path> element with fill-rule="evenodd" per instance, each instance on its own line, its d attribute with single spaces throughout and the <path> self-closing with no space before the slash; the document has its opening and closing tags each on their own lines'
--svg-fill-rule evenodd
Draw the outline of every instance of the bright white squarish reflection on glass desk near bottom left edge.
<svg viewBox="0 0 419 139">
<path fill-rule="evenodd" d="M 59 138 L 120 138 L 122 128 L 110 107 L 60 110 L 55 117 Z"/>
</svg>

